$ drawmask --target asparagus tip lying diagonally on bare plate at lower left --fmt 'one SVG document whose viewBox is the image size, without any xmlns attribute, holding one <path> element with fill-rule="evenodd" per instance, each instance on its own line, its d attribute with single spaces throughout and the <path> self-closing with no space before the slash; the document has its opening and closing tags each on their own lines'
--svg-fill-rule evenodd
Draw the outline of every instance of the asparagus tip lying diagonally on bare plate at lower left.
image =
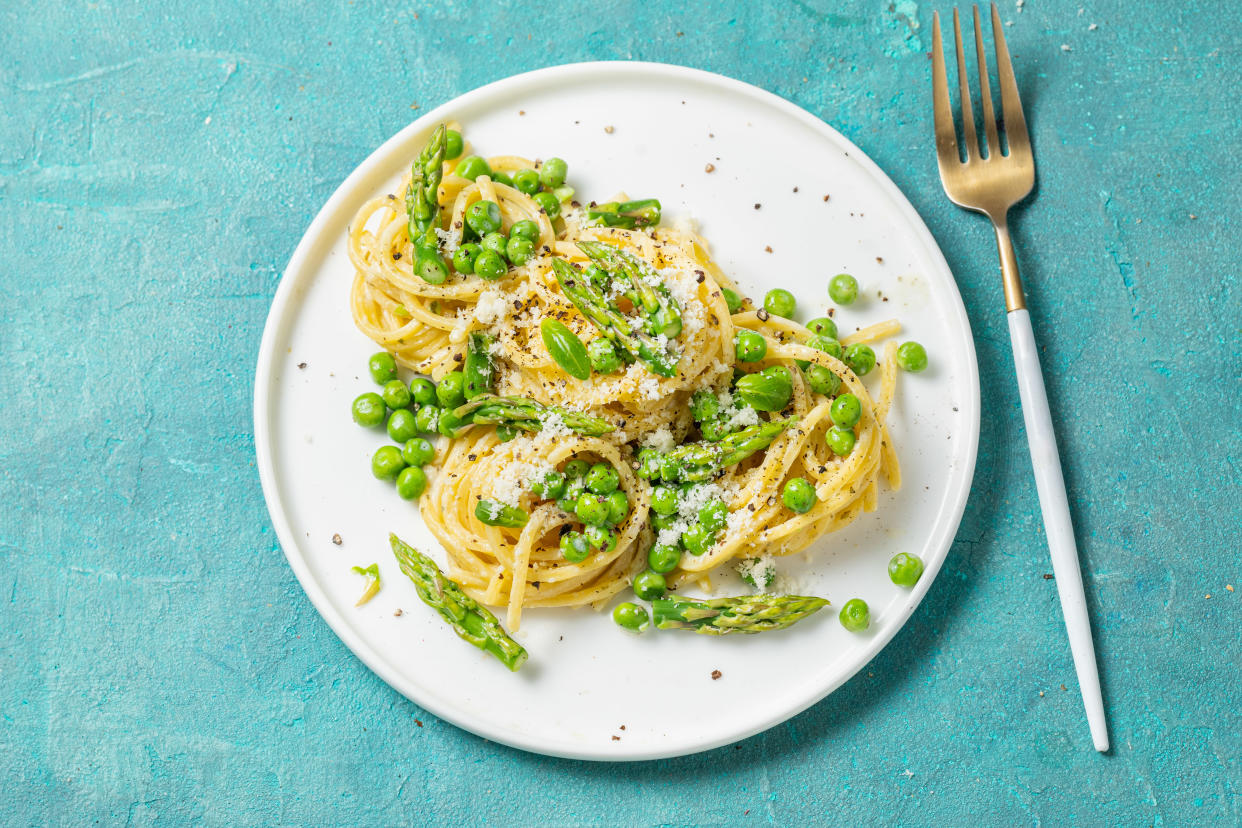
<svg viewBox="0 0 1242 828">
<path fill-rule="evenodd" d="M 522 667 L 527 660 L 527 650 L 509 638 L 496 616 L 466 595 L 456 581 L 445 577 L 433 560 L 401 542 L 396 535 L 389 535 L 389 541 L 392 544 L 392 554 L 396 555 L 401 571 L 414 581 L 419 597 L 438 612 L 453 632 L 474 647 L 496 655 L 510 670 L 517 672 Z"/>
</svg>

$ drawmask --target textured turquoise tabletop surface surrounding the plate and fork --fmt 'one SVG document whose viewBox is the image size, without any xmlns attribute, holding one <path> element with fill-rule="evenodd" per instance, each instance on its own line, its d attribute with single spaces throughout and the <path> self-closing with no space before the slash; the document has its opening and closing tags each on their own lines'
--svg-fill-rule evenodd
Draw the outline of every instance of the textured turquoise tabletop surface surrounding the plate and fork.
<svg viewBox="0 0 1242 828">
<path fill-rule="evenodd" d="M 1002 9 L 1108 756 L 1042 577 L 992 240 L 936 179 L 930 4 L 262 5 L 0 7 L 0 822 L 1242 819 L 1242 40 L 1216 4 Z M 892 646 L 766 734 L 621 766 L 486 742 L 371 675 L 277 547 L 250 413 L 340 180 L 415 106 L 589 58 L 732 74 L 858 143 L 959 276 L 985 401 L 961 530 Z"/>
</svg>

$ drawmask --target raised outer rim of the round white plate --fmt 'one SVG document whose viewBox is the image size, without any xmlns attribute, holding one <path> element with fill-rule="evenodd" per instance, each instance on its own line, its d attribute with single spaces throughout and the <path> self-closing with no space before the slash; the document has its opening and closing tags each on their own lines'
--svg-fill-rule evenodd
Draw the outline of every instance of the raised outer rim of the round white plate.
<svg viewBox="0 0 1242 828">
<path fill-rule="evenodd" d="M 333 607 L 328 600 L 325 591 L 319 586 L 318 581 L 310 572 L 306 556 L 301 552 L 297 536 L 289 525 L 283 508 L 283 502 L 276 484 L 274 456 L 272 452 L 268 422 L 271 407 L 270 402 L 272 398 L 271 392 L 279 356 L 277 354 L 277 341 L 289 324 L 287 320 L 289 304 L 298 294 L 299 284 L 308 278 L 304 277 L 307 271 L 307 259 L 309 259 L 317 248 L 322 246 L 324 227 L 329 225 L 335 214 L 342 210 L 342 205 L 349 200 L 350 194 L 369 176 L 375 175 L 376 168 L 381 165 L 381 161 L 392 151 L 392 149 L 409 142 L 412 135 L 425 130 L 431 123 L 441 120 L 452 110 L 472 104 L 478 98 L 503 94 L 514 87 L 542 84 L 549 81 L 561 79 L 565 76 L 585 74 L 605 68 L 607 72 L 612 73 L 612 77 L 616 77 L 617 71 L 633 73 L 636 76 L 663 76 L 678 81 L 705 83 L 732 94 L 740 94 L 751 99 L 758 99 L 759 103 L 775 107 L 782 114 L 800 120 L 817 133 L 825 142 L 835 144 L 850 154 L 850 159 L 854 164 L 859 164 L 877 182 L 883 194 L 893 201 L 897 210 L 903 215 L 909 227 L 914 231 L 915 236 L 919 237 L 919 241 L 923 243 L 924 250 L 933 264 L 939 267 L 941 272 L 949 277 L 949 284 L 953 287 L 953 298 L 955 299 L 950 303 L 950 305 L 956 315 L 956 319 L 950 322 L 954 326 L 960 324 L 966 331 L 965 355 L 968 359 L 965 367 L 968 376 L 965 379 L 969 398 L 960 401 L 959 406 L 969 408 L 965 413 L 968 415 L 968 420 L 971 426 L 969 433 L 966 434 L 968 452 L 964 458 L 968 468 L 961 477 L 960 489 L 956 493 L 951 493 L 954 497 L 950 498 L 951 511 L 954 514 L 948 523 L 943 524 L 944 529 L 941 530 L 941 534 L 946 536 L 940 538 L 935 545 L 936 549 L 943 546 L 945 550 L 944 554 L 936 556 L 936 560 L 928 566 L 924 576 L 919 580 L 914 588 L 910 590 L 909 596 L 899 611 L 899 618 L 894 619 L 894 623 L 886 624 L 883 633 L 872 637 L 867 642 L 867 646 L 859 649 L 859 654 L 847 662 L 847 669 L 842 670 L 838 679 L 825 686 L 815 688 L 815 691 L 807 694 L 806 698 L 800 699 L 796 705 L 782 708 L 776 711 L 775 715 L 765 716 L 760 721 L 751 722 L 745 727 L 729 730 L 723 735 L 718 734 L 710 739 L 703 739 L 693 742 L 683 741 L 667 749 L 643 749 L 633 752 L 625 752 L 623 750 L 617 752 L 616 746 L 614 745 L 611 746 L 611 754 L 595 751 L 586 744 L 584 744 L 579 750 L 568 749 L 561 745 L 544 745 L 540 744 L 537 737 L 519 732 L 510 732 L 501 726 L 493 726 L 487 721 L 469 721 L 466 716 L 458 715 L 457 710 L 451 709 L 447 705 L 442 705 L 437 699 L 419 698 L 421 694 L 411 691 L 404 678 L 397 674 L 395 669 L 391 669 L 389 663 L 379 654 L 379 652 L 364 637 L 356 634 L 345 618 L 337 612 L 335 607 Z M 573 79 L 580 81 L 581 78 Z M 291 273 L 294 274 L 294 278 L 286 278 Z M 358 659 L 361 660 L 368 669 L 375 673 L 375 675 L 384 680 L 390 688 L 431 714 L 469 734 L 501 742 L 510 747 L 561 758 L 580 758 L 604 762 L 645 761 L 689 756 L 707 750 L 713 750 L 723 745 L 741 741 L 743 739 L 749 739 L 755 734 L 787 721 L 812 705 L 818 704 L 846 682 L 854 678 L 863 667 L 866 667 L 889 644 L 889 642 L 892 642 L 897 633 L 905 627 L 905 623 L 914 614 L 914 611 L 923 603 L 923 598 L 927 596 L 932 583 L 939 575 L 940 567 L 948 557 L 949 549 L 953 545 L 953 539 L 956 536 L 958 530 L 961 526 L 961 518 L 965 513 L 966 503 L 970 497 L 977 463 L 980 408 L 981 397 L 979 386 L 979 361 L 975 351 L 974 331 L 971 330 L 970 318 L 966 314 L 965 303 L 961 298 L 961 290 L 958 288 L 953 269 L 949 267 L 949 263 L 944 257 L 944 252 L 936 243 L 935 237 L 927 226 L 927 222 L 923 221 L 923 217 L 914 209 L 914 205 L 900 190 L 900 187 L 898 187 L 897 184 L 888 176 L 888 174 L 886 174 L 879 165 L 871 159 L 869 155 L 867 155 L 853 142 L 823 119 L 774 92 L 746 83 L 745 81 L 676 63 L 660 63 L 652 61 L 584 61 L 576 63 L 561 63 L 508 76 L 450 98 L 445 103 L 414 119 L 381 143 L 356 168 L 354 168 L 354 170 L 345 178 L 344 181 L 340 182 L 340 185 L 337 186 L 307 226 L 307 230 L 298 241 L 298 245 L 294 248 L 293 254 L 289 257 L 284 271 L 281 273 L 281 282 L 276 288 L 274 295 L 272 297 L 272 304 L 263 324 L 263 335 L 260 340 L 258 359 L 255 371 L 255 459 L 268 518 L 276 530 L 277 540 L 281 544 L 281 551 L 284 554 L 284 559 L 288 562 L 289 569 L 292 569 L 294 576 L 297 576 L 302 591 L 310 600 L 310 603 L 319 613 L 319 617 L 323 618 L 342 643 L 344 643 L 345 647 L 348 647 L 349 650 L 358 657 Z M 414 690 L 417 690 L 417 688 L 414 688 Z"/>
</svg>

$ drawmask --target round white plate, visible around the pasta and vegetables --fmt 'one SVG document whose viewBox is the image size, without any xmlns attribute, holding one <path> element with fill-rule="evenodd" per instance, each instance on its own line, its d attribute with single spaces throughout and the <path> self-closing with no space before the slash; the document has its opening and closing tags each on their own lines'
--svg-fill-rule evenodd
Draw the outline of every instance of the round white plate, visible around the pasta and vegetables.
<svg viewBox="0 0 1242 828">
<path fill-rule="evenodd" d="M 660 197 L 666 216 L 692 215 L 750 295 L 785 286 L 804 322 L 826 309 L 832 274 L 853 273 L 863 298 L 838 313 L 842 331 L 897 317 L 903 338 L 928 346 L 932 367 L 899 377 L 891 417 L 902 490 L 882 488 L 879 509 L 822 538 L 810 561 L 781 561 L 801 591 L 831 598 L 833 608 L 781 633 L 729 638 L 635 637 L 606 612 L 530 611 L 518 633 L 530 660 L 510 674 L 419 601 L 388 533 L 441 561 L 443 552 L 417 510 L 371 477 L 379 436 L 350 422 L 350 401 L 373 387 L 365 365 L 376 349 L 350 319 L 345 227 L 366 199 L 392 191 L 425 135 L 446 119 L 463 123 L 484 155 L 566 159 L 571 184 L 587 197 L 625 190 Z M 302 587 L 342 641 L 395 689 L 461 727 L 596 760 L 724 745 L 789 719 L 853 675 L 932 586 L 961 519 L 977 438 L 977 367 L 961 298 L 893 182 L 786 101 L 656 63 L 579 63 L 508 78 L 428 112 L 380 146 L 293 253 L 255 381 L 255 448 L 272 523 Z M 886 564 L 898 551 L 927 562 L 913 590 L 888 580 Z M 355 608 L 361 578 L 350 566 L 373 561 L 384 588 Z M 729 588 L 741 590 L 740 582 L 725 582 Z M 856 596 L 873 617 L 861 636 L 836 618 Z M 348 688 L 342 694 L 344 704 Z"/>
</svg>

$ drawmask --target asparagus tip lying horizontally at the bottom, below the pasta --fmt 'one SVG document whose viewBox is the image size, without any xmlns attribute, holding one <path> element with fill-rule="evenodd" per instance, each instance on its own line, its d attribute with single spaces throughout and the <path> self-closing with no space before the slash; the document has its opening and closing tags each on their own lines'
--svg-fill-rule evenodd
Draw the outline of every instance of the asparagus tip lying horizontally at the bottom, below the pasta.
<svg viewBox="0 0 1242 828">
<path fill-rule="evenodd" d="M 657 598 L 651 602 L 660 629 L 691 629 L 704 636 L 761 633 L 784 629 L 820 611 L 827 598 L 804 595 L 739 595 L 691 601 Z"/>
</svg>

